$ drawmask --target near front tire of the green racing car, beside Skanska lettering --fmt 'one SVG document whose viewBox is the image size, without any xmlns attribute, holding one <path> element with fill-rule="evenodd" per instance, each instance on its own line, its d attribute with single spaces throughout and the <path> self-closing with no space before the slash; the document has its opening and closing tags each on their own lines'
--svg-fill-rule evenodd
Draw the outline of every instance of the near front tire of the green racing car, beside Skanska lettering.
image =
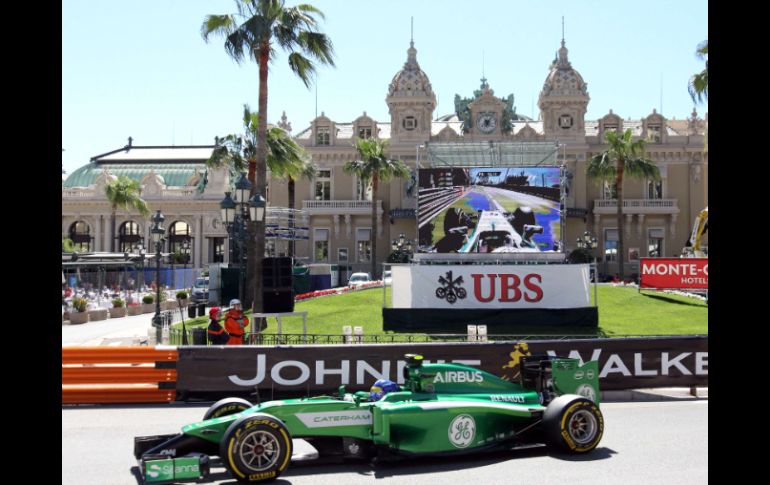
<svg viewBox="0 0 770 485">
<path fill-rule="evenodd" d="M 219 443 L 219 456 L 239 483 L 271 482 L 289 466 L 289 430 L 269 414 L 248 414 L 235 420 Z"/>
</svg>

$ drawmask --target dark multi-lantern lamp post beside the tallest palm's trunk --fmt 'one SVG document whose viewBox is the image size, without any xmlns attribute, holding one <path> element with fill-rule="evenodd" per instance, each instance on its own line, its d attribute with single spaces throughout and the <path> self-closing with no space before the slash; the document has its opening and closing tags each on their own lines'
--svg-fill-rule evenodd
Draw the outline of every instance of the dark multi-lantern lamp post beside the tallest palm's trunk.
<svg viewBox="0 0 770 485">
<path fill-rule="evenodd" d="M 265 220 L 265 199 L 259 194 L 249 199 L 251 192 L 251 182 L 246 178 L 246 174 L 241 172 L 241 176 L 235 183 L 235 198 L 231 196 L 232 192 L 225 192 L 225 198 L 219 203 L 222 211 L 222 220 L 225 223 L 227 232 L 230 236 L 231 260 L 238 261 L 239 276 L 238 296 L 243 301 L 246 279 L 246 241 L 248 231 L 246 224 L 249 221 L 263 222 Z M 237 258 L 235 256 L 237 251 Z M 259 255 L 257 256 L 259 257 Z M 261 275 L 257 275 L 261 277 Z"/>
</svg>

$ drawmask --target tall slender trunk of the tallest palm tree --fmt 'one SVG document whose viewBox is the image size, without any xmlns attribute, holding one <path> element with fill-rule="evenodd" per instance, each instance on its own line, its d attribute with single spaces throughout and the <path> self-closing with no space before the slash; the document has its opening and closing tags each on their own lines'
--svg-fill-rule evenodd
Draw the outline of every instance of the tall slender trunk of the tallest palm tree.
<svg viewBox="0 0 770 485">
<path fill-rule="evenodd" d="M 253 190 L 265 196 L 265 187 L 267 185 L 267 68 L 270 62 L 270 43 L 265 41 L 259 50 L 259 113 L 257 118 L 257 167 L 256 184 Z M 267 207 L 265 207 L 267 210 Z M 251 281 L 254 282 L 254 302 L 253 309 L 256 313 L 262 313 L 264 303 L 262 301 L 262 260 L 265 257 L 265 224 L 257 222 L 254 224 L 256 229 L 256 240 L 254 242 L 254 274 Z M 257 324 L 257 322 L 255 322 Z"/>
</svg>

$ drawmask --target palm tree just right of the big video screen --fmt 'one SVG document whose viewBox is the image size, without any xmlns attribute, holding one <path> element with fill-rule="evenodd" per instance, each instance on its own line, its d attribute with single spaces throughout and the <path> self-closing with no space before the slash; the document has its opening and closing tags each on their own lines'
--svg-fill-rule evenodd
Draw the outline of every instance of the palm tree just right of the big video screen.
<svg viewBox="0 0 770 485">
<path fill-rule="evenodd" d="M 637 179 L 660 180 L 660 170 L 655 164 L 644 158 L 644 140 L 631 140 L 631 130 L 623 136 L 614 131 L 607 131 L 607 150 L 596 155 L 588 162 L 589 178 L 615 183 L 617 192 L 618 217 L 618 275 L 623 280 L 623 178 L 628 175 Z"/>
</svg>

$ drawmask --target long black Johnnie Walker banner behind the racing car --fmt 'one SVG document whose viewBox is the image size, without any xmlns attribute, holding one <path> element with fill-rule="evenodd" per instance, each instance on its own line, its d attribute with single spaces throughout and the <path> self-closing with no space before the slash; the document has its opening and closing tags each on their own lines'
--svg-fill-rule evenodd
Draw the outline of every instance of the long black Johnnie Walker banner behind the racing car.
<svg viewBox="0 0 770 485">
<path fill-rule="evenodd" d="M 519 378 L 523 356 L 548 353 L 599 361 L 603 390 L 708 385 L 708 336 L 526 341 L 509 343 L 179 347 L 177 391 L 248 393 L 270 390 L 368 390 L 377 379 L 403 383 L 404 354 L 426 362 L 458 362 L 507 380 Z"/>
</svg>

